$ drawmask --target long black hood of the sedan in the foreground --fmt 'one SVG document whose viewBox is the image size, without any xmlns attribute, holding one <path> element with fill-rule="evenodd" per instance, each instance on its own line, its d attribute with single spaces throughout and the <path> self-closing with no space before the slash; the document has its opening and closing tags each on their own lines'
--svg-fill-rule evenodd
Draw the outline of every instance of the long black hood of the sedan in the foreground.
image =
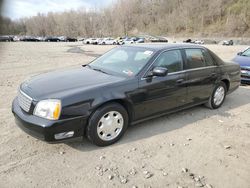
<svg viewBox="0 0 250 188">
<path fill-rule="evenodd" d="M 20 89 L 37 101 L 61 99 L 74 93 L 102 87 L 124 79 L 126 78 L 81 67 L 34 76 L 22 83 Z"/>
</svg>

